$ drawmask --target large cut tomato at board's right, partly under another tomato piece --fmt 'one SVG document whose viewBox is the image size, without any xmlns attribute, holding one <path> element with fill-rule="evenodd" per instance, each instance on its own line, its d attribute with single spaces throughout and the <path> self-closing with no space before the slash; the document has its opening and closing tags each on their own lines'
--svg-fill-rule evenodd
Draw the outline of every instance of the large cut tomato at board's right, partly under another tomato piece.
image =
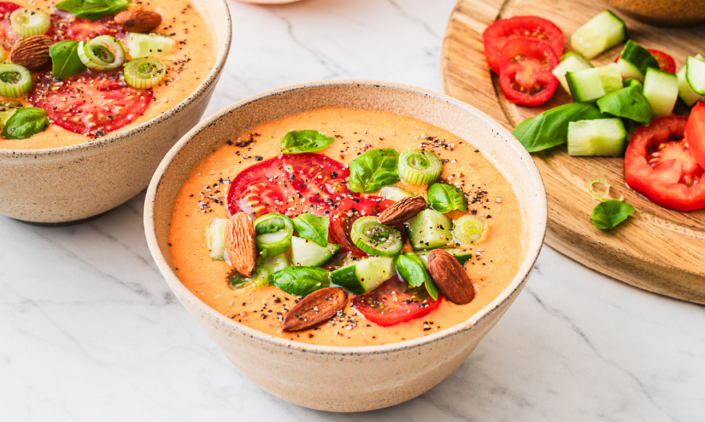
<svg viewBox="0 0 705 422">
<path fill-rule="evenodd" d="M 678 211 L 705 206 L 705 170 L 695 160 L 685 136 L 686 118 L 651 120 L 632 136 L 625 154 L 627 184 L 652 202 Z M 696 141 L 696 140 L 694 140 Z"/>
</svg>

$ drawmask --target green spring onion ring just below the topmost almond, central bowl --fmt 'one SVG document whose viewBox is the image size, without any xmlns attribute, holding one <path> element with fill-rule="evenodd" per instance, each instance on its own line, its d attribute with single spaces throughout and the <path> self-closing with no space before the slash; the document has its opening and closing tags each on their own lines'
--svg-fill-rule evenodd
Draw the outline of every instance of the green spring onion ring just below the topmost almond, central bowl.
<svg viewBox="0 0 705 422">
<path fill-rule="evenodd" d="M 369 255 L 383 257 L 396 255 L 403 245 L 401 234 L 393 227 L 377 221 L 377 217 L 357 219 L 350 231 L 350 238 L 357 248 Z"/>
</svg>

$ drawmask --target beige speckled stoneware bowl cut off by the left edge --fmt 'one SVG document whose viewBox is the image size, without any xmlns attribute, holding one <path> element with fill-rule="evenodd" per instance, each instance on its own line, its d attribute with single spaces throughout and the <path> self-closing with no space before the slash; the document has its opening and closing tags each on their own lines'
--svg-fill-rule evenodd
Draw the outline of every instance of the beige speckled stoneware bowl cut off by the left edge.
<svg viewBox="0 0 705 422">
<path fill-rule="evenodd" d="M 75 146 L 0 149 L 0 215 L 71 224 L 121 205 L 147 187 L 169 148 L 198 123 L 230 51 L 226 0 L 196 0 L 216 39 L 216 63 L 178 106 L 121 134 Z"/>
</svg>

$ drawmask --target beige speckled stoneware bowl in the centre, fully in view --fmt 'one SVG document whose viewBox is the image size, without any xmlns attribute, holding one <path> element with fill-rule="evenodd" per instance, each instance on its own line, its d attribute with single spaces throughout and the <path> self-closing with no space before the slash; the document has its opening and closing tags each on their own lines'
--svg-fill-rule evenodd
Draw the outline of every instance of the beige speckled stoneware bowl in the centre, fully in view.
<svg viewBox="0 0 705 422">
<path fill-rule="evenodd" d="M 465 323 L 424 338 L 381 346 L 331 347 L 295 343 L 238 324 L 183 286 L 168 254 L 167 231 L 174 198 L 192 168 L 234 134 L 323 106 L 390 111 L 430 122 L 470 141 L 501 170 L 519 199 L 525 256 L 515 279 L 496 300 Z M 247 377 L 300 406 L 367 411 L 405 402 L 443 381 L 499 321 L 527 281 L 544 242 L 546 192 L 527 151 L 477 108 L 432 91 L 387 82 L 315 82 L 240 101 L 184 136 L 149 185 L 145 231 L 149 250 L 173 293 Z"/>
</svg>

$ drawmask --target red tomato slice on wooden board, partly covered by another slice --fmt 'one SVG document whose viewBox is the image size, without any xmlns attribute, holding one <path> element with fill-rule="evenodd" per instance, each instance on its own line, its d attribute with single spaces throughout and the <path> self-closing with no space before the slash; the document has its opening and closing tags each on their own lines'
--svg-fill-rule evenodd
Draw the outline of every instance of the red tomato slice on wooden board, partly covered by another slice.
<svg viewBox="0 0 705 422">
<path fill-rule="evenodd" d="M 563 54 L 563 31 L 550 20 L 538 16 L 501 19 L 482 32 L 487 64 L 497 75 L 501 68 L 502 49 L 508 41 L 515 38 L 544 41 L 551 46 L 556 57 Z"/>
</svg>

